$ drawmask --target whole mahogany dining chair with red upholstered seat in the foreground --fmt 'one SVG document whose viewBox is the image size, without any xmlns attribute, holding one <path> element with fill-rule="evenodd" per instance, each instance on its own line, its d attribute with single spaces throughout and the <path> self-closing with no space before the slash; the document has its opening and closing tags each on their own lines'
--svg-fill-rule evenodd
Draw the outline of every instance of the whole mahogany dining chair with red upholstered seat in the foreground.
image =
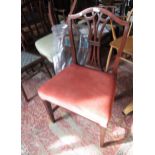
<svg viewBox="0 0 155 155">
<path fill-rule="evenodd" d="M 86 20 L 89 28 L 89 48 L 93 49 L 94 54 L 98 50 L 100 38 L 104 35 L 104 27 L 109 20 L 124 26 L 123 39 L 111 72 L 102 72 L 78 64 L 73 36 L 73 27 L 76 25 L 74 20 L 77 19 Z M 100 23 L 102 27 L 97 34 Z M 38 94 L 44 101 L 52 122 L 55 122 L 52 106 L 55 104 L 97 123 L 100 126 L 100 146 L 103 146 L 105 129 L 111 117 L 115 97 L 117 68 L 126 43 L 129 25 L 110 11 L 99 7 L 87 8 L 80 13 L 69 15 L 68 25 L 72 64 L 45 82 L 38 89 Z"/>
</svg>

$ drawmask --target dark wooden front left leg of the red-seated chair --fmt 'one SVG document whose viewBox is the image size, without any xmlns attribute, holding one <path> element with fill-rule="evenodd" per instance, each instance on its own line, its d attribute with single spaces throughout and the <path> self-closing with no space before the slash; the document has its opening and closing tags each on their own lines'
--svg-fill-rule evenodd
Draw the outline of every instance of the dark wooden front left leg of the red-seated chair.
<svg viewBox="0 0 155 155">
<path fill-rule="evenodd" d="M 44 101 L 44 105 L 45 105 L 45 108 L 46 108 L 46 111 L 50 117 L 50 120 L 54 123 L 55 122 L 55 119 L 54 119 L 54 111 L 52 109 L 52 105 L 50 102 L 48 101 Z"/>
</svg>

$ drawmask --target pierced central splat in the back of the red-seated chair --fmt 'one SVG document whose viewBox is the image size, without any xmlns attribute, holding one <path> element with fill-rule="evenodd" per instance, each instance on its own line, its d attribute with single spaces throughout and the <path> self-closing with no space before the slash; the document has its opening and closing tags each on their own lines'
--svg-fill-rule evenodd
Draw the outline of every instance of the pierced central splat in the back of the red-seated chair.
<svg viewBox="0 0 155 155">
<path fill-rule="evenodd" d="M 87 22 L 89 28 L 88 40 L 89 40 L 89 57 L 88 64 L 99 67 L 100 63 L 100 47 L 101 39 L 104 36 L 104 28 L 109 22 L 110 17 L 103 17 L 102 13 L 92 12 L 92 16 L 84 15 L 84 19 Z"/>
</svg>

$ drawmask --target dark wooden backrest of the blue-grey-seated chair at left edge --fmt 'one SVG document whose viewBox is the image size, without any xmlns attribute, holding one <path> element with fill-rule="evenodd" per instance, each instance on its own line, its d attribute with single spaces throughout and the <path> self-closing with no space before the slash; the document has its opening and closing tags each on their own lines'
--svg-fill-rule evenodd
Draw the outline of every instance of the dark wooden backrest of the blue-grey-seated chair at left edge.
<svg viewBox="0 0 155 155">
<path fill-rule="evenodd" d="M 25 0 L 22 3 L 21 31 L 25 36 L 23 44 L 27 45 L 27 49 L 36 51 L 35 41 L 51 31 L 50 21 L 47 17 L 47 5 L 43 0 Z"/>
</svg>

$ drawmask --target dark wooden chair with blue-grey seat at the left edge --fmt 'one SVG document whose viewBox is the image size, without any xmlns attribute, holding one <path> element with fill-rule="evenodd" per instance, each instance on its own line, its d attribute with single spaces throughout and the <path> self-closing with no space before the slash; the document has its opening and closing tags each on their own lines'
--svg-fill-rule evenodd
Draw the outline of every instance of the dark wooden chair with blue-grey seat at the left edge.
<svg viewBox="0 0 155 155">
<path fill-rule="evenodd" d="M 24 0 L 21 5 L 21 89 L 26 101 L 28 98 L 23 82 L 32 78 L 45 68 L 45 72 L 51 77 L 51 73 L 45 63 L 45 58 L 39 55 L 35 49 L 35 41 L 49 33 L 50 23 L 47 19 L 47 5 L 43 0 Z M 43 70 L 44 71 L 44 70 Z"/>
</svg>

